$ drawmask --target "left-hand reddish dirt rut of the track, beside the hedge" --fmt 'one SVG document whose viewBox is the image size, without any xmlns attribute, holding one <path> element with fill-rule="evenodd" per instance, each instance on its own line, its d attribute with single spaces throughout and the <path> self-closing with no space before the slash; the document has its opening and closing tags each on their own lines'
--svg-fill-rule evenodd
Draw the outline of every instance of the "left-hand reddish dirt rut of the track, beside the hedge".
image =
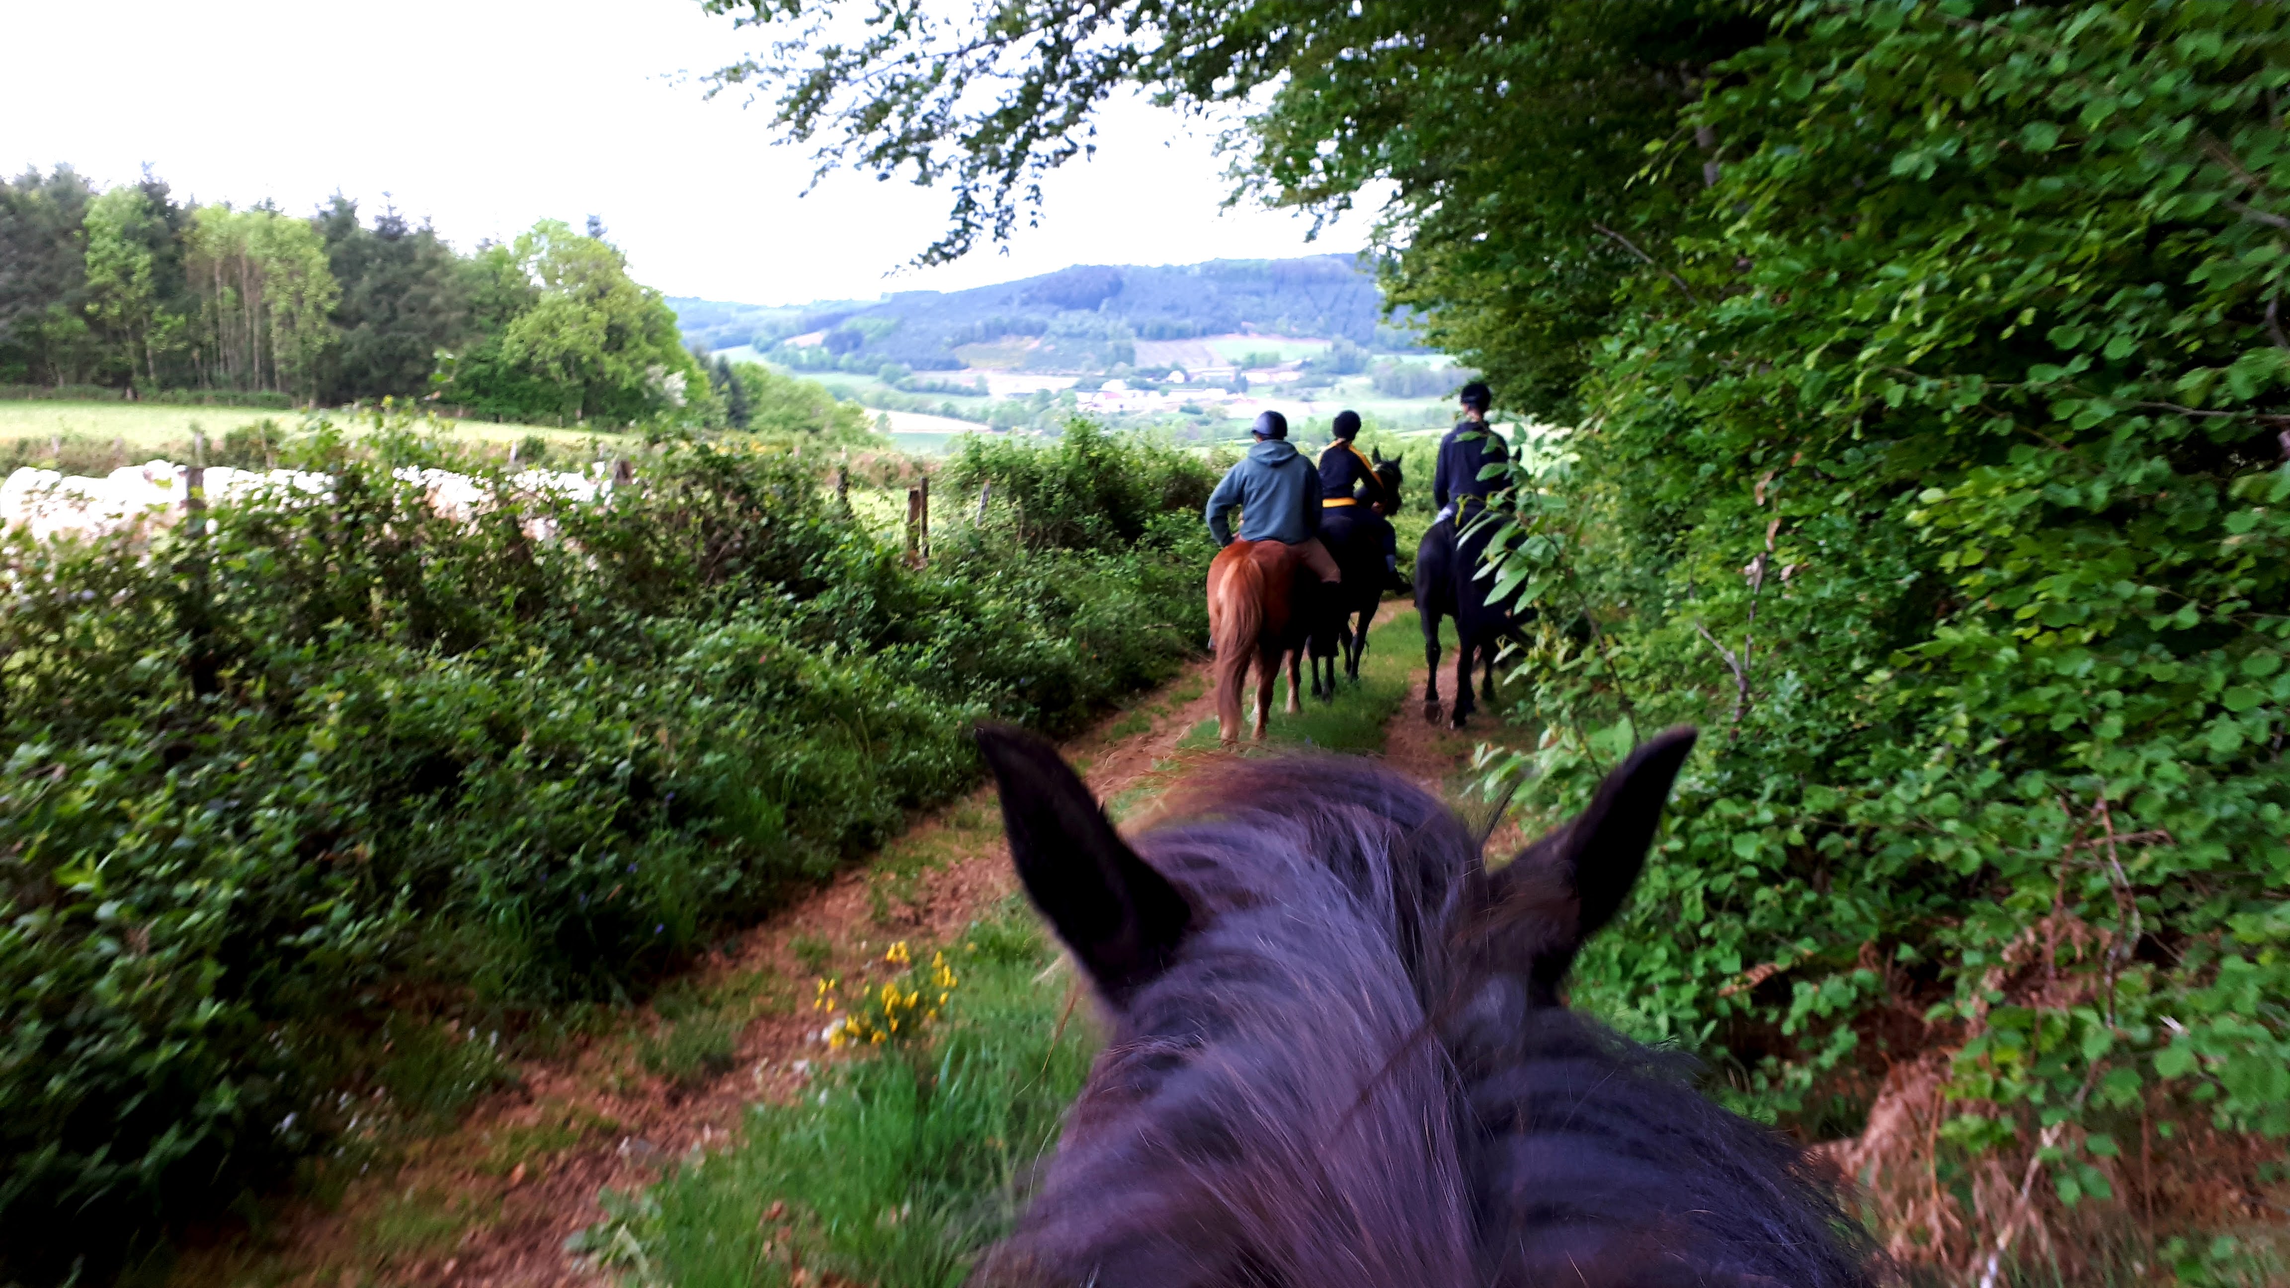
<svg viewBox="0 0 2290 1288">
<path fill-rule="evenodd" d="M 1200 665 L 1069 740 L 1065 754 L 1101 800 L 1118 802 L 1170 770 L 1177 743 L 1209 715 Z M 1012 887 L 994 795 L 980 788 L 694 972 L 685 995 L 714 997 L 737 1015 L 726 1073 L 682 1082 L 648 1073 L 639 1052 L 662 1040 L 666 1022 L 653 1008 L 621 1013 L 611 1031 L 556 1059 L 518 1063 L 508 1091 L 481 1100 L 451 1132 L 412 1144 L 396 1167 L 353 1180 L 332 1210 L 298 1203 L 256 1251 L 185 1254 L 174 1281 L 607 1283 L 563 1251 L 566 1238 L 605 1215 L 602 1187 L 650 1185 L 671 1160 L 726 1144 L 747 1105 L 788 1100 L 808 1082 L 827 1054 L 804 992 L 813 974 L 861 967 L 895 940 L 946 942 Z"/>
</svg>

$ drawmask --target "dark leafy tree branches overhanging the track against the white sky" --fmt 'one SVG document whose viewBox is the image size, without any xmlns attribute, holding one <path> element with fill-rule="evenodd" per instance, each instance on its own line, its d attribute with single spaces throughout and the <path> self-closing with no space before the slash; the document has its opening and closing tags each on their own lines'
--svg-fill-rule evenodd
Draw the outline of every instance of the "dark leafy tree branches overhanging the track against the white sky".
<svg viewBox="0 0 2290 1288">
<path fill-rule="evenodd" d="M 1488 374 L 1530 408 L 1571 406 L 1630 245 L 1704 183 L 1637 176 L 1642 149 L 1763 30 L 1685 0 L 703 7 L 774 37 L 712 83 L 767 101 L 820 174 L 950 193 L 923 264 L 1028 227 L 1042 176 L 1090 154 L 1095 115 L 1150 94 L 1221 124 L 1237 197 L 1317 215 L 1372 202 L 1392 303 L 1434 312 L 1436 344 L 1498 360 Z"/>
</svg>

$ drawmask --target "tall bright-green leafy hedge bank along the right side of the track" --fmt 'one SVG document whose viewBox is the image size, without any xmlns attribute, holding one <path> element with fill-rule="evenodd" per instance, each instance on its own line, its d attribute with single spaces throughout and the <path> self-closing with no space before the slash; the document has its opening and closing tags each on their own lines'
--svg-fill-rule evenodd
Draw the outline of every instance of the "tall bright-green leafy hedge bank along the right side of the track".
<svg viewBox="0 0 2290 1288">
<path fill-rule="evenodd" d="M 2290 1132 L 2285 83 L 2263 5 L 1779 14 L 1516 470 L 1505 768 L 1706 729 L 1585 992 L 1811 1134 L 1914 1109 L 1912 1258 Z"/>
</svg>

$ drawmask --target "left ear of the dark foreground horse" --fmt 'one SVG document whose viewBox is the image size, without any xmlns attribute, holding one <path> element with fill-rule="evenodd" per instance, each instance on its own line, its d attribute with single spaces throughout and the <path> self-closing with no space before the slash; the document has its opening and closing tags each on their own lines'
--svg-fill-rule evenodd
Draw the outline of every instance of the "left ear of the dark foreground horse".
<svg viewBox="0 0 2290 1288">
<path fill-rule="evenodd" d="M 998 724 L 982 724 L 976 738 L 1001 788 L 1010 859 L 1026 894 L 1120 1006 L 1168 969 L 1193 924 L 1191 905 L 1122 841 L 1056 747 Z"/>
</svg>

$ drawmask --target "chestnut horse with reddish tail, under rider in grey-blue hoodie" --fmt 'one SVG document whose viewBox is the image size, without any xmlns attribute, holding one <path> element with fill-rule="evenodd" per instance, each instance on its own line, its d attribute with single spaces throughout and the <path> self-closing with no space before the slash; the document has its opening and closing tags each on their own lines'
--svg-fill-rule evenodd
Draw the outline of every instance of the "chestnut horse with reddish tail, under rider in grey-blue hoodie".
<svg viewBox="0 0 2290 1288">
<path fill-rule="evenodd" d="M 1234 541 L 1209 561 L 1209 646 L 1216 649 L 1216 736 L 1241 736 L 1241 685 L 1257 669 L 1257 720 L 1250 738 L 1264 740 L 1273 715 L 1280 662 L 1289 669 L 1289 710 L 1301 710 L 1303 646 L 1312 630 L 1319 582 L 1294 550 L 1278 541 Z"/>
</svg>

